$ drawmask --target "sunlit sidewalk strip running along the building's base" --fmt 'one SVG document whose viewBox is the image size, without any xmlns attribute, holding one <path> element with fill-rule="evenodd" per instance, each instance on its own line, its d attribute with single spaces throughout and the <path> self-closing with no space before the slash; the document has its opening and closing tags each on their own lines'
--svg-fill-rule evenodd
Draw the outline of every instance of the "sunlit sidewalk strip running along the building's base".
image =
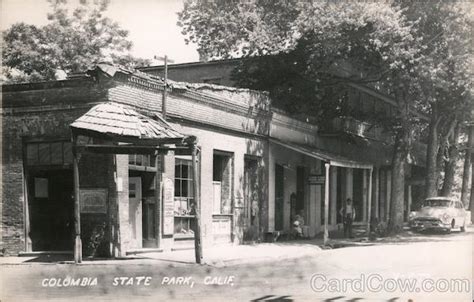
<svg viewBox="0 0 474 302">
<path fill-rule="evenodd" d="M 468 233 L 472 233 L 472 227 L 468 229 Z M 449 240 L 453 236 L 462 236 L 463 234 L 451 235 L 430 235 L 418 234 L 410 231 L 392 236 L 377 238 L 375 241 L 369 241 L 365 235 L 363 228 L 354 230 L 354 238 L 344 238 L 341 231 L 330 232 L 329 242 L 327 246 L 323 245 L 322 234 L 316 238 L 305 240 L 288 240 L 277 241 L 274 243 L 258 243 L 252 245 L 221 245 L 204 249 L 204 264 L 222 267 L 233 266 L 239 264 L 261 263 L 261 262 L 278 262 L 289 259 L 302 257 L 311 257 L 317 253 L 323 252 L 324 249 L 354 247 L 354 246 L 370 246 L 377 244 L 400 244 L 419 241 L 439 241 Z M 81 265 L 94 264 L 195 264 L 194 249 L 180 250 L 172 252 L 149 252 L 127 256 L 119 259 L 83 259 Z M 73 264 L 72 255 L 54 255 L 42 254 L 35 256 L 23 257 L 0 257 L 0 265 L 16 265 L 16 264 Z"/>
</svg>

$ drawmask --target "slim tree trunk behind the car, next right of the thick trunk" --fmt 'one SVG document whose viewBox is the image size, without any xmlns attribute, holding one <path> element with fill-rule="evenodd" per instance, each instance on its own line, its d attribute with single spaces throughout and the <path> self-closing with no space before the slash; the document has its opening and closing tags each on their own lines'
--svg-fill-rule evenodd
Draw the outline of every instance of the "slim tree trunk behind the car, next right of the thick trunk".
<svg viewBox="0 0 474 302">
<path fill-rule="evenodd" d="M 426 176 L 425 176 L 425 198 L 436 196 L 438 193 L 438 118 L 436 104 L 433 105 L 431 113 L 428 150 L 426 153 Z"/>
</svg>

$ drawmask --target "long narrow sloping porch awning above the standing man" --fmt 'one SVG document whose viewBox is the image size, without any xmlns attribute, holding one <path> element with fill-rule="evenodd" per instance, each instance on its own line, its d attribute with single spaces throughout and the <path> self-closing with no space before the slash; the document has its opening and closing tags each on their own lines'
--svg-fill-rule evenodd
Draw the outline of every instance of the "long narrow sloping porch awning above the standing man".
<svg viewBox="0 0 474 302">
<path fill-rule="evenodd" d="M 270 142 L 283 146 L 285 148 L 291 149 L 293 151 L 302 153 L 309 157 L 313 157 L 313 158 L 328 162 L 331 166 L 355 168 L 355 169 L 373 169 L 374 167 L 374 165 L 369 164 L 369 163 L 354 161 L 344 156 L 340 156 L 328 151 L 317 150 L 312 147 L 301 146 L 301 145 L 291 144 L 287 142 L 281 142 L 276 139 L 270 139 Z"/>
</svg>

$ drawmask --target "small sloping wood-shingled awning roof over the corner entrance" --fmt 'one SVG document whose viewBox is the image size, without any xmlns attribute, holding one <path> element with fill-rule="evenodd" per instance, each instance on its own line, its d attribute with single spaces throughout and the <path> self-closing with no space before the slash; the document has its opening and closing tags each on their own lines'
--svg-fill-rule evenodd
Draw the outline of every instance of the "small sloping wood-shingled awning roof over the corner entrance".
<svg viewBox="0 0 474 302">
<path fill-rule="evenodd" d="M 176 141 L 186 138 L 174 130 L 158 115 L 145 116 L 129 106 L 117 103 L 102 103 L 92 107 L 83 116 L 76 119 L 72 130 L 95 133 L 117 140 L 136 141 Z"/>
</svg>

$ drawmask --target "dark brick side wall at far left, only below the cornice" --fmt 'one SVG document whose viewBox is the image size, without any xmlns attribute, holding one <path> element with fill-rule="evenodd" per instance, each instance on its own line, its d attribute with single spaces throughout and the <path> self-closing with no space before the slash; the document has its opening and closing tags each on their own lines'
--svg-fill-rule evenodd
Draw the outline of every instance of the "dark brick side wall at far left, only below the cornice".
<svg viewBox="0 0 474 302">
<path fill-rule="evenodd" d="M 62 111 L 4 112 L 2 116 L 2 241 L 6 254 L 25 251 L 23 139 L 68 138 L 69 124 L 84 109 Z"/>
</svg>

